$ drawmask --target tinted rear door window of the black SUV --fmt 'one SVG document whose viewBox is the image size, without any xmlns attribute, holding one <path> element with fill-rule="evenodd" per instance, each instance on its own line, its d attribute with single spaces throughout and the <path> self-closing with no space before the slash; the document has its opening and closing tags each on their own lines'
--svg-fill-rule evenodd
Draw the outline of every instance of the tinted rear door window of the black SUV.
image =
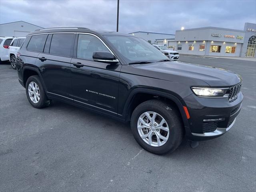
<svg viewBox="0 0 256 192">
<path fill-rule="evenodd" d="M 69 57 L 73 46 L 74 34 L 53 34 L 50 54 Z"/>
</svg>

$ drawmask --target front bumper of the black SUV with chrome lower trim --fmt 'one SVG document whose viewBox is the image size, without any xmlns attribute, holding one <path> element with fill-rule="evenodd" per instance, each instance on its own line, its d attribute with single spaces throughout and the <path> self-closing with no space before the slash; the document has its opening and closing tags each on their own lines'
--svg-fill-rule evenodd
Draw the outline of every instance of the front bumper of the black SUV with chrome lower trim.
<svg viewBox="0 0 256 192">
<path fill-rule="evenodd" d="M 200 98 L 194 94 L 184 98 L 190 114 L 187 138 L 201 141 L 225 134 L 234 126 L 242 108 L 242 100 L 242 92 L 233 102 L 228 102 L 227 98 Z"/>
</svg>

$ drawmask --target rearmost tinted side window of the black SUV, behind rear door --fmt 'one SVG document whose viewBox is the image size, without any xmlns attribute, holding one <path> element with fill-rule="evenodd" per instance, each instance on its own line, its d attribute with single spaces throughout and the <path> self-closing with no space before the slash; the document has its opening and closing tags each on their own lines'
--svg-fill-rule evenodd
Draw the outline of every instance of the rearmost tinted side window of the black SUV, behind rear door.
<svg viewBox="0 0 256 192">
<path fill-rule="evenodd" d="M 32 36 L 30 42 L 28 43 L 27 49 L 30 51 L 43 52 L 46 38 L 46 34 Z"/>
</svg>

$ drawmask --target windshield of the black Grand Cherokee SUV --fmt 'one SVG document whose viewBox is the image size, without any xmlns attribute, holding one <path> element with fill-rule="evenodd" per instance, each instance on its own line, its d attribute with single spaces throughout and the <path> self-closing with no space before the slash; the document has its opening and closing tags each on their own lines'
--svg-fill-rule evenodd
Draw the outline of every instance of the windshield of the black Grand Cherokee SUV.
<svg viewBox="0 0 256 192">
<path fill-rule="evenodd" d="M 110 43 L 122 54 L 127 63 L 157 62 L 167 59 L 162 52 L 138 37 L 106 35 Z"/>
</svg>

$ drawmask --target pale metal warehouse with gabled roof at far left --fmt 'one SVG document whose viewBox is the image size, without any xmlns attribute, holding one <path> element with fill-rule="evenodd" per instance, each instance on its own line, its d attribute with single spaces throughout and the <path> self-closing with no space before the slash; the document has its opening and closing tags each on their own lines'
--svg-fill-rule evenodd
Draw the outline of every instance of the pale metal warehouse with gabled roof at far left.
<svg viewBox="0 0 256 192">
<path fill-rule="evenodd" d="M 43 27 L 24 22 L 16 21 L 11 23 L 0 24 L 0 36 L 7 37 L 22 37 L 26 36 L 29 32 L 37 29 L 43 29 Z"/>
</svg>

